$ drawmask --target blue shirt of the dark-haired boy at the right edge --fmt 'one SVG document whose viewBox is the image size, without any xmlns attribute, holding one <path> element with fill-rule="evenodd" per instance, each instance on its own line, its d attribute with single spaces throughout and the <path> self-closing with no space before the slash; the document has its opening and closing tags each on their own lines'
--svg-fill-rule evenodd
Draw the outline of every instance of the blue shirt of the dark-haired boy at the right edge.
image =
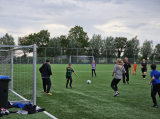
<svg viewBox="0 0 160 119">
<path fill-rule="evenodd" d="M 157 70 L 151 71 L 151 78 L 154 77 L 154 81 L 152 82 L 152 85 L 160 83 L 159 77 L 160 77 L 160 72 Z"/>
</svg>

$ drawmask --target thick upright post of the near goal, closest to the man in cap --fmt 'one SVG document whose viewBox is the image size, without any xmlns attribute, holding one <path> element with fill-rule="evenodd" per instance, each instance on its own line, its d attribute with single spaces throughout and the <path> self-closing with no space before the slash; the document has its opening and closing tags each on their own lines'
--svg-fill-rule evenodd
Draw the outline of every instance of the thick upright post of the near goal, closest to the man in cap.
<svg viewBox="0 0 160 119">
<path fill-rule="evenodd" d="M 33 45 L 33 104 L 36 105 L 36 44 Z"/>
</svg>

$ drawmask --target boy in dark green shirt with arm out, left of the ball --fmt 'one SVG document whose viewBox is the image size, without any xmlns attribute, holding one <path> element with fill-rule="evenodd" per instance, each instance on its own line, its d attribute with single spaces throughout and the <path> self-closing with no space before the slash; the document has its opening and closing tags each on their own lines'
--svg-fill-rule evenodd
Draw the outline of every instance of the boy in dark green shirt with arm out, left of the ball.
<svg viewBox="0 0 160 119">
<path fill-rule="evenodd" d="M 70 87 L 72 88 L 72 72 L 77 76 L 77 74 L 74 72 L 74 70 L 72 69 L 72 64 L 69 63 L 69 67 L 67 67 L 67 72 L 66 72 L 66 79 L 67 79 L 67 83 L 66 83 L 66 88 L 68 88 L 68 83 L 70 80 Z"/>
</svg>

